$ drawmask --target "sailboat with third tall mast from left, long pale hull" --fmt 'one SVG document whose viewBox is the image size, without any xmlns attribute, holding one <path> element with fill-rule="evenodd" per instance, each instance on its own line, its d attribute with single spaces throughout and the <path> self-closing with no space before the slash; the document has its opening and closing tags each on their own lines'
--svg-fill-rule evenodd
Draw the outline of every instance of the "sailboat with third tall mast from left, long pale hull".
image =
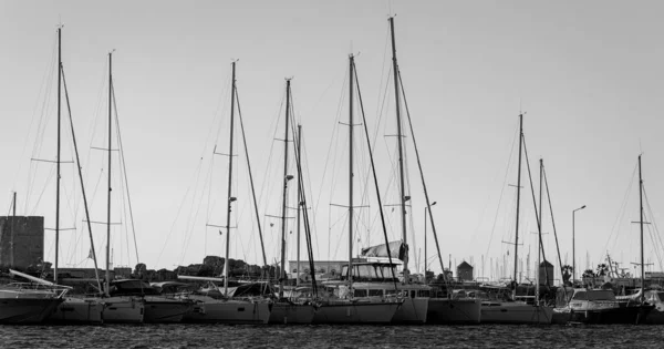
<svg viewBox="0 0 664 349">
<path fill-rule="evenodd" d="M 231 63 L 231 93 L 230 93 L 230 151 L 228 155 L 228 198 L 226 216 L 226 259 L 224 263 L 224 279 L 204 278 L 178 275 L 179 279 L 196 279 L 209 283 L 224 283 L 224 292 L 221 297 L 214 297 L 207 292 L 193 292 L 186 295 L 194 301 L 194 308 L 183 318 L 186 322 L 219 322 L 219 324 L 268 324 L 270 319 L 271 304 L 261 298 L 241 299 L 234 298 L 228 287 L 229 269 L 229 243 L 230 243 L 230 213 L 231 204 L 236 201 L 232 196 L 232 147 L 235 129 L 235 103 L 236 92 L 236 62 Z M 212 284 L 215 285 L 215 284 Z M 216 285 L 215 285 L 216 287 Z"/>
</svg>

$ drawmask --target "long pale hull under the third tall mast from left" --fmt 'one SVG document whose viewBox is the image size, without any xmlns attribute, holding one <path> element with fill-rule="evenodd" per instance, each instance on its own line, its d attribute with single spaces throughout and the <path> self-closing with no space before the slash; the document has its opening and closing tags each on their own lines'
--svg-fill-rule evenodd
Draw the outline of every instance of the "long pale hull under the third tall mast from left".
<svg viewBox="0 0 664 349">
<path fill-rule="evenodd" d="M 269 302 L 190 297 L 195 300 L 194 309 L 185 315 L 184 322 L 268 324 L 270 320 Z"/>
</svg>

